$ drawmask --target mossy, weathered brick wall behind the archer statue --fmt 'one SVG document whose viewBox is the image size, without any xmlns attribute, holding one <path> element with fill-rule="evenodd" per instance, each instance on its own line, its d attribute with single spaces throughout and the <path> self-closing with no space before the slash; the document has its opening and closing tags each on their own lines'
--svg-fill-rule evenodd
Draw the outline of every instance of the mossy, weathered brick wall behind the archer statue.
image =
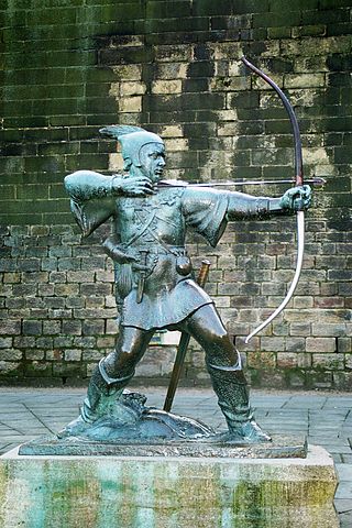
<svg viewBox="0 0 352 528">
<path fill-rule="evenodd" d="M 110 123 L 166 141 L 169 178 L 293 175 L 293 139 L 277 96 L 241 65 L 245 54 L 284 88 L 302 134 L 306 176 L 327 179 L 308 215 L 305 270 L 285 312 L 241 337 L 285 296 L 295 220 L 231 223 L 210 258 L 215 296 L 254 385 L 352 387 L 351 2 L 343 0 L 9 0 L 1 4 L 2 383 L 80 383 L 114 343 L 111 262 L 101 233 L 81 241 L 63 178 L 121 169 Z M 285 186 L 245 187 L 280 195 Z M 108 229 L 108 228 L 106 228 Z M 158 341 L 141 382 L 165 382 L 175 345 Z M 172 340 L 173 341 L 173 340 Z M 185 383 L 208 383 L 193 343 Z"/>
</svg>

